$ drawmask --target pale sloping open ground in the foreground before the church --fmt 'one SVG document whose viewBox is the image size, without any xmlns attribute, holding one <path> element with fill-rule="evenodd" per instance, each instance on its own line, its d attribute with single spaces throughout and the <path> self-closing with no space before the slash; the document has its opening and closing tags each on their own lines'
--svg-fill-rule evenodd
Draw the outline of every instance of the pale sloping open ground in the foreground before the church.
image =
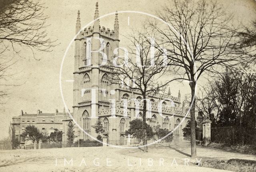
<svg viewBox="0 0 256 172">
<path fill-rule="evenodd" d="M 196 166 L 189 159 L 189 143 L 154 144 L 144 153 L 138 148 L 53 148 L 0 151 L 1 172 L 223 172 Z M 198 154 L 205 151 L 199 148 Z M 207 151 L 205 151 L 207 152 Z"/>
</svg>

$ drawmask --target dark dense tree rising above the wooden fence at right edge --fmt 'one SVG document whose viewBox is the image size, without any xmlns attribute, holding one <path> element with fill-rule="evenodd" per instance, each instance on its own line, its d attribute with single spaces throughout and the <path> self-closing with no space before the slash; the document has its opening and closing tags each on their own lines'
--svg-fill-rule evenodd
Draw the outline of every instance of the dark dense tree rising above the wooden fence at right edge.
<svg viewBox="0 0 256 172">
<path fill-rule="evenodd" d="M 214 94 L 221 104 L 219 125 L 255 126 L 255 72 L 227 70 L 215 81 Z M 248 125 L 249 124 L 249 125 Z"/>
</svg>

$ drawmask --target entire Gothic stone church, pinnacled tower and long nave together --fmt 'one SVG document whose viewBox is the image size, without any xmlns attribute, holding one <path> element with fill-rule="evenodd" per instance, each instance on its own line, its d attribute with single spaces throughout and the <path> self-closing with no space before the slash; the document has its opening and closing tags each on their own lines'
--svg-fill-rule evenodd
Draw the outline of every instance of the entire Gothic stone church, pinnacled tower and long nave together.
<svg viewBox="0 0 256 172">
<path fill-rule="evenodd" d="M 94 13 L 94 20 L 99 18 L 98 2 L 96 3 L 96 10 Z M 103 137 L 107 138 L 108 144 L 123 145 L 126 144 L 125 131 L 129 128 L 129 122 L 136 119 L 142 118 L 143 101 L 139 106 L 139 111 L 136 110 L 135 103 L 129 101 L 127 107 L 127 115 L 124 116 L 124 104 L 123 100 L 137 99 L 142 100 L 142 95 L 134 90 L 123 88 L 120 85 L 110 84 L 108 76 L 113 72 L 113 68 L 107 66 L 98 66 L 105 60 L 102 57 L 102 53 L 93 52 L 100 50 L 99 38 L 103 39 L 104 49 L 102 52 L 106 53 L 107 62 L 112 62 L 114 58 L 114 49 L 119 46 L 119 23 L 118 13 L 114 18 L 114 30 L 100 26 L 100 20 L 96 20 L 93 26 L 81 30 L 80 12 L 76 20 L 76 34 L 79 32 L 75 39 L 75 56 L 74 56 L 74 88 L 73 88 L 73 118 L 84 129 L 85 132 L 97 137 L 93 126 L 96 124 L 98 118 L 100 118 L 104 127 Z M 88 38 L 90 41 L 87 41 Z M 91 58 L 88 58 L 88 51 Z M 90 60 L 91 65 L 86 65 L 87 60 Z M 81 90 L 84 88 L 93 88 L 92 90 L 84 90 L 81 94 Z M 103 91 L 102 89 L 106 89 Z M 114 90 L 114 94 L 110 94 Z M 96 92 L 96 93 L 95 93 Z M 92 101 L 92 94 L 95 96 L 95 100 Z M 115 99 L 115 118 L 112 117 L 112 107 L 110 99 Z M 171 96 L 170 89 L 167 94 L 156 94 L 154 96 L 148 96 L 152 104 L 152 112 L 150 118 L 146 118 L 147 123 L 152 126 L 153 130 L 156 126 L 161 128 L 167 128 L 173 130 L 176 126 L 179 126 L 174 131 L 174 138 L 180 139 L 182 136 L 182 128 L 184 128 L 187 122 L 190 120 L 190 114 L 186 117 L 184 122 L 180 124 L 186 110 L 180 100 L 180 91 L 178 96 Z M 173 100 L 175 106 L 171 106 L 170 101 Z M 158 113 L 158 102 L 162 102 L 162 115 Z M 96 108 L 95 108 L 96 107 Z M 95 110 L 97 118 L 92 118 L 92 108 Z M 163 118 L 164 116 L 164 118 Z M 63 120 L 63 142 L 67 142 L 67 130 L 68 124 L 74 124 L 75 122 L 69 117 L 65 116 Z M 75 125 L 75 135 L 78 136 L 75 139 L 82 140 L 93 140 L 90 136 L 85 134 L 83 131 Z"/>
</svg>

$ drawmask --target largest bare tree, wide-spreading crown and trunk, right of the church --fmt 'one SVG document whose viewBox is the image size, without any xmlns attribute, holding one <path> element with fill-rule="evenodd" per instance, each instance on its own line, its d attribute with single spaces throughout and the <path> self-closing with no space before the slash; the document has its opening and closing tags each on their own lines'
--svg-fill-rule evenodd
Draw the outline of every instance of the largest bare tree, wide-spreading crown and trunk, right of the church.
<svg viewBox="0 0 256 172">
<path fill-rule="evenodd" d="M 196 157 L 194 96 L 198 79 L 248 59 L 234 52 L 236 29 L 217 1 L 175 0 L 162 9 L 159 17 L 168 24 L 150 23 L 158 38 L 156 48 L 166 48 L 170 66 L 191 89 L 191 156 Z"/>
</svg>

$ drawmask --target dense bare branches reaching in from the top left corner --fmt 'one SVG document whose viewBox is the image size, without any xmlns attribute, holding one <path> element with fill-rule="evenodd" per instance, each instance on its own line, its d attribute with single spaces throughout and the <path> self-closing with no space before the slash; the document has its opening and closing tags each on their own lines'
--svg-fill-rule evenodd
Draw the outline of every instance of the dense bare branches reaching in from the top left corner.
<svg viewBox="0 0 256 172">
<path fill-rule="evenodd" d="M 20 52 L 21 46 L 32 50 L 50 51 L 53 42 L 45 31 L 44 4 L 33 0 L 0 0 L 1 51 Z"/>
</svg>

